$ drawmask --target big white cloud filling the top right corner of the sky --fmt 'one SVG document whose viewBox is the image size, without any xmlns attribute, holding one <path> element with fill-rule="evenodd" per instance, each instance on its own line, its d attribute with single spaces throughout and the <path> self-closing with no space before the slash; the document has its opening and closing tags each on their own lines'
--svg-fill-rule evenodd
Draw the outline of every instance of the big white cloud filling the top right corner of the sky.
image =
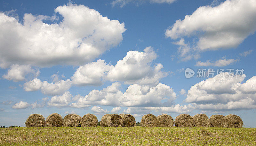
<svg viewBox="0 0 256 146">
<path fill-rule="evenodd" d="M 166 37 L 182 39 L 195 36 L 198 41 L 189 47 L 186 58 L 205 50 L 233 48 L 256 31 L 256 2 L 254 0 L 227 0 L 218 6 L 201 6 L 183 20 L 177 20 L 165 32 Z M 225 23 L 223 23 L 225 22 Z M 182 46 L 181 46 L 182 47 Z M 187 59 L 189 60 L 189 59 Z"/>
</svg>

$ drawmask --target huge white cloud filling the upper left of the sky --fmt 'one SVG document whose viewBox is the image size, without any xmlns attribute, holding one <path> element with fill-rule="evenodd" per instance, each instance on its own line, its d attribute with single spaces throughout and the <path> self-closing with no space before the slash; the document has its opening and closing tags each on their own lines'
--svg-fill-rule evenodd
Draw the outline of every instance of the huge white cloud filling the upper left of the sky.
<svg viewBox="0 0 256 146">
<path fill-rule="evenodd" d="M 26 13 L 21 24 L 0 13 L 1 68 L 12 64 L 83 65 L 123 40 L 124 23 L 103 17 L 84 5 L 69 3 L 55 12 L 63 17 L 60 23 L 43 22 L 54 16 Z"/>
</svg>

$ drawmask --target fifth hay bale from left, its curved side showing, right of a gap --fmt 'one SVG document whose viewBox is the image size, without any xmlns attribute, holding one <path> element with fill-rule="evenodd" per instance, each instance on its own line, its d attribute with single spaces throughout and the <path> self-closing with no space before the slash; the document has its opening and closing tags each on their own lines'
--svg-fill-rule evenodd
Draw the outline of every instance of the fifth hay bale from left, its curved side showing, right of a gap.
<svg viewBox="0 0 256 146">
<path fill-rule="evenodd" d="M 105 114 L 100 121 L 101 127 L 120 127 L 121 116 L 118 114 Z"/>
</svg>

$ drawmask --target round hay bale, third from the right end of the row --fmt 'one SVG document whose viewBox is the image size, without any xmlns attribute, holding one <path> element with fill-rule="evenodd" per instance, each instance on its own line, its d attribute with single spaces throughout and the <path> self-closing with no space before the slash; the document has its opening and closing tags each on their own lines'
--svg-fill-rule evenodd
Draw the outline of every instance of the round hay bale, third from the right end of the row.
<svg viewBox="0 0 256 146">
<path fill-rule="evenodd" d="M 196 123 L 196 127 L 210 127 L 210 120 L 206 114 L 199 113 L 194 115 L 193 120 Z"/>
</svg>

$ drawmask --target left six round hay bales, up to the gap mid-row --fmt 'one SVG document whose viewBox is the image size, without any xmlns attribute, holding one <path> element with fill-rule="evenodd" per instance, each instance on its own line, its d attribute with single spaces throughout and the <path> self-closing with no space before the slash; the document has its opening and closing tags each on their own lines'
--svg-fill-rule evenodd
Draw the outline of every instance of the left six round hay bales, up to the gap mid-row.
<svg viewBox="0 0 256 146">
<path fill-rule="evenodd" d="M 82 118 L 77 114 L 68 114 L 63 119 L 58 113 L 52 113 L 46 120 L 41 114 L 31 114 L 25 122 L 26 127 L 96 127 L 98 119 L 93 114 Z M 135 118 L 130 114 L 106 114 L 102 117 L 102 127 L 134 127 Z"/>
</svg>

